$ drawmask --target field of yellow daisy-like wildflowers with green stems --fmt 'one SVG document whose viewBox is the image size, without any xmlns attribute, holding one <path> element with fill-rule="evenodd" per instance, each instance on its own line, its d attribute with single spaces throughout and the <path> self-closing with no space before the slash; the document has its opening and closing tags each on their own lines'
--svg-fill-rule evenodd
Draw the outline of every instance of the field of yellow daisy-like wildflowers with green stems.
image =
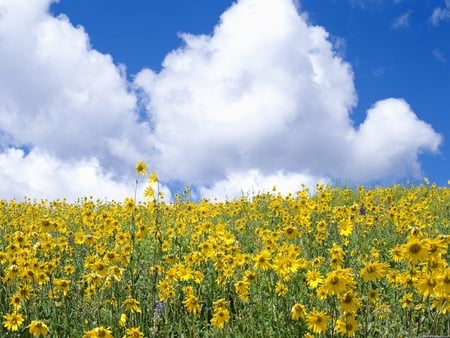
<svg viewBox="0 0 450 338">
<path fill-rule="evenodd" d="M 165 203 L 148 180 L 140 203 L 0 201 L 1 337 L 450 335 L 450 188 Z"/>
</svg>

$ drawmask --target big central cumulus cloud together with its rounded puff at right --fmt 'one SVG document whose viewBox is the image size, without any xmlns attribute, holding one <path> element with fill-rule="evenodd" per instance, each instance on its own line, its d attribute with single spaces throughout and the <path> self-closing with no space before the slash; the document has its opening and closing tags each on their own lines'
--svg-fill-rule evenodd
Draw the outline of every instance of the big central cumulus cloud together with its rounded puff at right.
<svg viewBox="0 0 450 338">
<path fill-rule="evenodd" d="M 255 177 L 308 181 L 303 173 L 367 182 L 418 174 L 419 153 L 441 142 L 400 99 L 376 103 L 354 126 L 351 66 L 290 0 L 241 0 L 212 35 L 181 37 L 161 72 L 135 79 L 167 179 L 205 194 Z"/>
</svg>

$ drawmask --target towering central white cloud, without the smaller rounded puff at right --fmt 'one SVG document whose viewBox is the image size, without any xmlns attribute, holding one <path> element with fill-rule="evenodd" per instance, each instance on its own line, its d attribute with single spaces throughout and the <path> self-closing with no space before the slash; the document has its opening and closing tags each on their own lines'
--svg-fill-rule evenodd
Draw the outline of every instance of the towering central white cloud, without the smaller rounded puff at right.
<svg viewBox="0 0 450 338">
<path fill-rule="evenodd" d="M 153 162 L 197 184 L 255 167 L 323 172 L 344 156 L 356 103 L 351 68 L 327 37 L 287 0 L 240 1 L 213 36 L 183 35 L 161 73 L 136 78 L 155 121 Z"/>
</svg>

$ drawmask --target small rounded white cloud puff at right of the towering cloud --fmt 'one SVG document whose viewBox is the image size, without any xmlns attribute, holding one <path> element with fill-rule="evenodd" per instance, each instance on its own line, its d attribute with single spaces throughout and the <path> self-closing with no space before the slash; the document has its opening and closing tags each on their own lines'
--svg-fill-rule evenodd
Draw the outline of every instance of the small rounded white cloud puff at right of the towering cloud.
<svg viewBox="0 0 450 338">
<path fill-rule="evenodd" d="M 418 155 L 436 152 L 441 141 L 441 136 L 419 120 L 404 100 L 378 101 L 354 135 L 351 166 L 339 176 L 360 181 L 377 176 L 418 176 Z"/>
</svg>

